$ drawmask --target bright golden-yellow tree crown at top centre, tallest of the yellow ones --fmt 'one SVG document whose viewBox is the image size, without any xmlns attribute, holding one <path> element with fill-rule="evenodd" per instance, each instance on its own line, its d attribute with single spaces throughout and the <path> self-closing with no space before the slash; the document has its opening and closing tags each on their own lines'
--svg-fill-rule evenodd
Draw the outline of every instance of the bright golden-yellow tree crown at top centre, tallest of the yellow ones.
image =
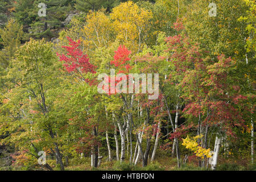
<svg viewBox="0 0 256 182">
<path fill-rule="evenodd" d="M 150 30 L 151 18 L 151 11 L 140 9 L 131 1 L 114 7 L 110 14 L 117 39 L 133 52 L 139 51 L 143 46 Z"/>
</svg>

